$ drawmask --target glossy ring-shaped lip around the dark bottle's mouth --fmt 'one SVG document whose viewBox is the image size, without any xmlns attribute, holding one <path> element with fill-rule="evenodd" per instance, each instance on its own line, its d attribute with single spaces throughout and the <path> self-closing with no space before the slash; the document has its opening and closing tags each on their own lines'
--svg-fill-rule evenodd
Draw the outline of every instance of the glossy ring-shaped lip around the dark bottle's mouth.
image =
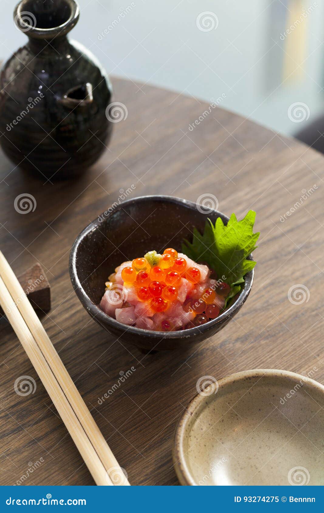
<svg viewBox="0 0 324 513">
<path fill-rule="evenodd" d="M 22 19 L 22 14 L 25 11 L 25 6 L 30 2 L 30 0 L 21 0 L 13 11 L 13 18 L 14 22 L 18 29 L 21 30 L 21 26 L 18 25 L 18 21 Z M 51 37 L 55 37 L 57 35 L 64 35 L 67 32 L 69 32 L 78 22 L 79 16 L 80 16 L 80 7 L 76 0 L 64 0 L 64 2 L 70 7 L 71 12 L 68 17 L 68 19 L 62 23 L 61 25 L 58 25 L 57 27 L 50 27 L 50 28 L 40 28 L 40 27 L 33 27 L 30 25 L 30 28 L 28 30 L 24 30 L 23 32 L 26 33 L 26 35 L 30 37 L 36 37 L 39 39 L 50 39 Z M 33 13 L 31 13 L 33 14 Z"/>
</svg>

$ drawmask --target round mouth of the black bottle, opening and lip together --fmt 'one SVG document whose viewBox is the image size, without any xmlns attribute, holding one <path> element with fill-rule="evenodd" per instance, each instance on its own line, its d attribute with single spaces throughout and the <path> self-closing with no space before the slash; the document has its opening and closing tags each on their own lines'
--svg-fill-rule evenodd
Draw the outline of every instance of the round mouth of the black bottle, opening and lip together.
<svg viewBox="0 0 324 513">
<path fill-rule="evenodd" d="M 49 39 L 69 32 L 79 14 L 75 0 L 22 0 L 13 16 L 16 27 L 26 35 Z"/>
</svg>

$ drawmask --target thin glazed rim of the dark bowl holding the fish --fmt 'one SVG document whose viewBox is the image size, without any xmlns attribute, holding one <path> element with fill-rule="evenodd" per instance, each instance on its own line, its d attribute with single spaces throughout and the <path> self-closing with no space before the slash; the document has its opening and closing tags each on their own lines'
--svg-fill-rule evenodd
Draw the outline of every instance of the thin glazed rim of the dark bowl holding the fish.
<svg viewBox="0 0 324 513">
<path fill-rule="evenodd" d="M 165 202 L 170 202 L 170 203 L 176 203 L 177 205 L 180 204 L 180 205 L 188 207 L 190 209 L 197 208 L 196 203 L 193 203 L 188 200 L 183 200 L 182 198 L 154 194 L 154 195 L 148 195 L 148 196 L 138 196 L 137 198 L 126 200 L 126 201 L 122 202 L 120 205 L 118 205 L 116 208 L 114 208 L 112 210 L 112 212 L 109 212 L 108 214 L 103 213 L 102 216 L 104 216 L 105 219 L 107 220 L 109 217 L 111 217 L 113 214 L 115 214 L 115 212 L 125 208 L 126 205 L 135 204 L 139 201 L 158 201 L 158 202 L 165 201 Z M 229 219 L 227 217 L 227 215 L 223 214 L 222 212 L 219 212 L 218 210 L 213 210 L 213 213 L 223 216 L 223 218 L 225 218 L 227 221 Z M 100 217 L 100 216 L 98 216 L 98 217 Z M 74 289 L 75 293 L 77 294 L 78 298 L 80 299 L 82 305 L 92 315 L 92 317 L 96 317 L 96 319 L 99 321 L 100 324 L 101 323 L 109 324 L 112 327 L 116 327 L 116 328 L 119 328 L 120 330 L 123 330 L 124 332 L 128 331 L 130 333 L 140 334 L 143 337 L 154 337 L 156 339 L 159 339 L 159 338 L 161 338 L 161 336 L 163 334 L 163 339 L 165 339 L 165 338 L 166 339 L 178 339 L 179 337 L 180 338 L 184 338 L 184 337 L 191 338 L 191 337 L 194 337 L 195 335 L 198 335 L 199 333 L 208 331 L 209 329 L 213 328 L 214 326 L 217 326 L 218 324 L 222 324 L 224 321 L 228 320 L 228 318 L 231 318 L 234 315 L 234 313 L 236 313 L 236 311 L 240 308 L 240 306 L 246 301 L 247 296 L 249 295 L 249 293 L 251 291 L 253 279 L 254 279 L 254 269 L 252 269 L 252 271 L 249 271 L 248 273 L 245 274 L 245 283 L 244 283 L 243 290 L 241 291 L 239 297 L 233 303 L 233 305 L 230 308 L 228 308 L 227 310 L 225 310 L 223 313 L 221 313 L 216 319 L 208 321 L 199 327 L 194 327 L 194 328 L 189 328 L 189 329 L 184 329 L 184 330 L 179 330 L 179 331 L 167 331 L 167 332 L 153 331 L 153 330 L 151 331 L 151 330 L 147 330 L 147 329 L 137 328 L 136 326 L 127 326 L 127 328 L 125 329 L 125 326 L 126 326 L 125 324 L 123 324 L 119 321 L 116 321 L 116 319 L 113 319 L 112 317 L 107 315 L 103 310 L 101 310 L 101 308 L 99 308 L 99 306 L 95 305 L 90 300 L 90 298 L 86 294 L 84 288 L 82 287 L 82 284 L 80 283 L 78 273 L 77 273 L 76 260 L 77 260 L 78 247 L 79 247 L 80 243 L 82 242 L 82 240 L 91 231 L 98 228 L 99 224 L 100 224 L 100 222 L 98 221 L 98 218 L 97 218 L 96 220 L 93 221 L 93 223 L 90 223 L 88 226 L 86 226 L 86 228 L 84 228 L 84 230 L 82 230 L 82 232 L 77 236 L 77 239 L 75 239 L 73 246 L 71 248 L 71 252 L 70 252 L 69 271 L 70 271 L 70 279 L 72 282 L 73 289 Z M 249 260 L 253 260 L 252 253 L 247 258 Z"/>
</svg>

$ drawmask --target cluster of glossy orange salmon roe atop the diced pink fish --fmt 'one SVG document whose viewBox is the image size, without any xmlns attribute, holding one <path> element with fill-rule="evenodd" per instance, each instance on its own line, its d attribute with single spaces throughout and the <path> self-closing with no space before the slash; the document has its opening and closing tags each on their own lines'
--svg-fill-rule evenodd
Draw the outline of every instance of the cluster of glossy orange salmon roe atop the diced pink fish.
<svg viewBox="0 0 324 513">
<path fill-rule="evenodd" d="M 155 312 L 164 312 L 170 303 L 178 299 L 178 288 L 181 278 L 190 283 L 198 283 L 200 271 L 196 267 L 186 269 L 186 261 L 178 258 L 173 248 L 164 250 L 158 265 L 151 266 L 145 258 L 136 258 L 131 267 L 124 267 L 122 279 L 127 285 L 137 289 L 140 301 L 150 301 Z"/>
</svg>

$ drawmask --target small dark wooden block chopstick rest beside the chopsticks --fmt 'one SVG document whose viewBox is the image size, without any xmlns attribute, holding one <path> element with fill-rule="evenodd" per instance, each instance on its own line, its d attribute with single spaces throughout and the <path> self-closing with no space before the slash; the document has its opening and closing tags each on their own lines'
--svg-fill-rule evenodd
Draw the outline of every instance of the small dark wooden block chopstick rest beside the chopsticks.
<svg viewBox="0 0 324 513">
<path fill-rule="evenodd" d="M 34 310 L 48 312 L 51 309 L 51 288 L 41 264 L 36 263 L 29 267 L 18 276 L 18 282 L 28 295 Z M 4 311 L 0 307 L 0 317 L 2 315 L 4 315 Z"/>
</svg>

